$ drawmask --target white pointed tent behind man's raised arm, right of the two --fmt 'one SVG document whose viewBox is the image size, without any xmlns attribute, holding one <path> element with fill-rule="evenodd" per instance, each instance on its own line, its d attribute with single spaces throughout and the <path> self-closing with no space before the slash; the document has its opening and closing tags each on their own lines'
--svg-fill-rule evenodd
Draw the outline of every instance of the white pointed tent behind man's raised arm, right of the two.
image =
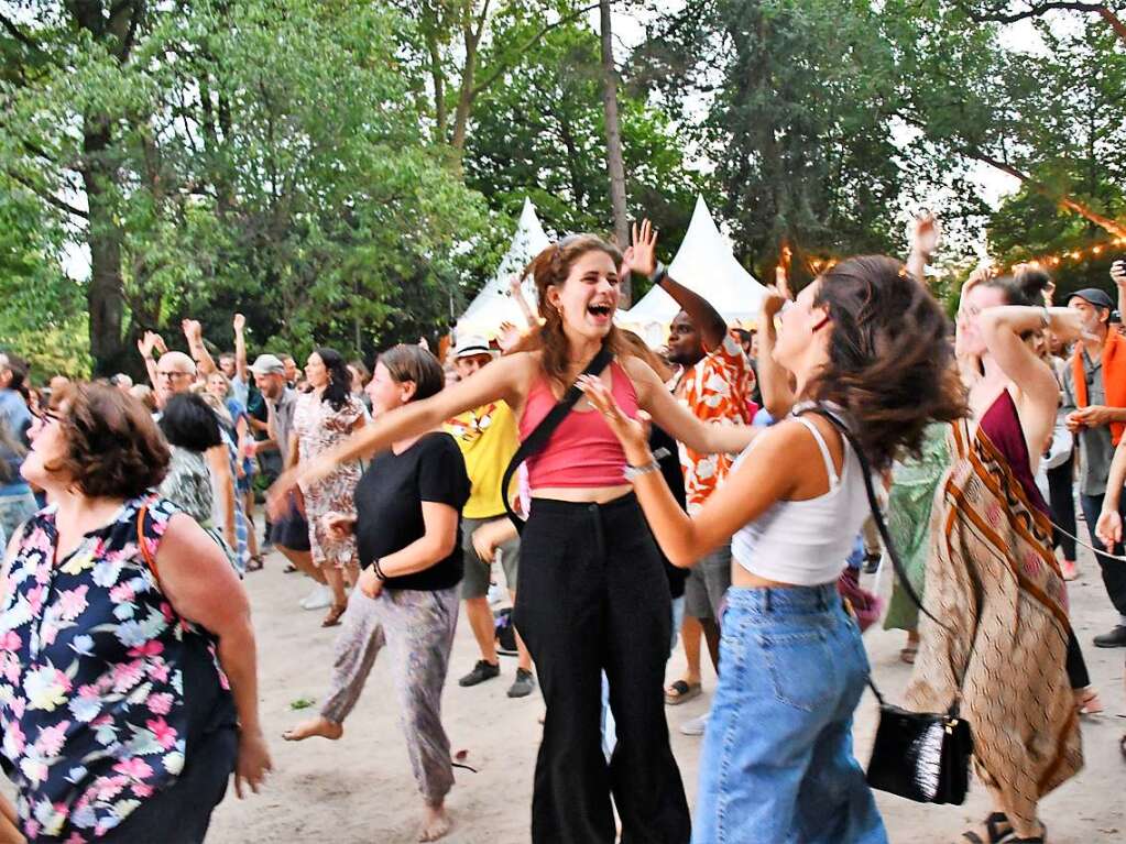
<svg viewBox="0 0 1126 844">
<path fill-rule="evenodd" d="M 766 288 L 735 260 L 704 197 L 696 200 L 696 210 L 677 257 L 669 264 L 669 275 L 707 299 L 729 325 L 747 325 L 758 318 Z M 654 287 L 629 311 L 619 313 L 616 322 L 640 333 L 651 345 L 661 345 L 668 339 L 669 323 L 679 311 L 669 294 Z"/>
</svg>

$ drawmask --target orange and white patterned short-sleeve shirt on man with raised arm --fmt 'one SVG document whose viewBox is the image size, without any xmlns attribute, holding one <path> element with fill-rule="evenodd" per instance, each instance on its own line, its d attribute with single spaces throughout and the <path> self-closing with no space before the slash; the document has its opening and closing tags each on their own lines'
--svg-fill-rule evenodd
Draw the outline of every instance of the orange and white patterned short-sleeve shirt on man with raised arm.
<svg viewBox="0 0 1126 844">
<path fill-rule="evenodd" d="M 727 334 L 680 379 L 677 398 L 706 424 L 749 425 L 747 399 L 754 388 L 754 372 L 739 340 Z M 704 455 L 680 443 L 688 512 L 695 513 L 727 476 L 735 456 Z"/>
</svg>

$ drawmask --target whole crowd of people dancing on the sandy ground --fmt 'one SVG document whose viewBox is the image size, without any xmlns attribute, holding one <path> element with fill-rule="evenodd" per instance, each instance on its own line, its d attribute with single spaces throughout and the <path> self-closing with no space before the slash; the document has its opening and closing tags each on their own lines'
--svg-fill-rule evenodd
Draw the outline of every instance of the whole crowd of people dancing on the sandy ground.
<svg viewBox="0 0 1126 844">
<path fill-rule="evenodd" d="M 580 234 L 536 255 L 524 325 L 440 359 L 395 345 L 370 374 L 325 347 L 250 362 L 239 314 L 215 357 L 196 321 L 186 352 L 146 332 L 148 384 L 33 393 L 0 354 L 0 841 L 199 842 L 232 773 L 258 791 L 247 589 L 277 550 L 339 627 L 320 709 L 284 738 L 339 738 L 386 647 L 420 841 L 456 820 L 441 698 L 464 605 L 480 658 L 458 683 L 510 648 L 508 695 L 546 703 L 537 844 L 886 842 L 852 749 L 886 517 L 905 706 L 958 704 L 992 801 L 962 841 L 1043 844 L 1038 801 L 1102 708 L 1083 648 L 1126 647 L 1126 263 L 1118 303 L 978 271 L 951 324 L 923 280 L 937 241 L 923 215 L 905 261 L 850 258 L 796 296 L 779 272 L 754 330 L 670 277 L 646 221 L 624 251 Z M 681 308 L 661 349 L 615 324 L 628 273 Z M 1076 544 L 1119 613 L 1091 643 Z M 704 693 L 704 647 L 690 812 L 665 711 Z"/>
</svg>

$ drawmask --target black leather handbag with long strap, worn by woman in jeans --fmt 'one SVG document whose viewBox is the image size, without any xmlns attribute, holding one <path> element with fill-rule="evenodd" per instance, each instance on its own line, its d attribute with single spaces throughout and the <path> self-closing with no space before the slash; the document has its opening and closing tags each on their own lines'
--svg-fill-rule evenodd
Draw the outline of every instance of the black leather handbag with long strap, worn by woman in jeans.
<svg viewBox="0 0 1126 844">
<path fill-rule="evenodd" d="M 905 586 L 904 591 L 923 613 L 941 625 L 923 608 L 922 601 L 911 589 L 879 511 L 872 483 L 872 469 L 852 432 L 841 419 L 823 406 L 799 412 L 823 416 L 848 440 L 860 461 L 868 505 L 879 529 L 879 537 Z M 921 803 L 960 806 L 969 788 L 969 756 L 974 751 L 974 743 L 969 724 L 958 716 L 957 699 L 946 712 L 909 712 L 885 701 L 870 677 L 868 688 L 879 701 L 879 726 L 876 728 L 876 742 L 868 761 L 868 784 Z"/>
</svg>

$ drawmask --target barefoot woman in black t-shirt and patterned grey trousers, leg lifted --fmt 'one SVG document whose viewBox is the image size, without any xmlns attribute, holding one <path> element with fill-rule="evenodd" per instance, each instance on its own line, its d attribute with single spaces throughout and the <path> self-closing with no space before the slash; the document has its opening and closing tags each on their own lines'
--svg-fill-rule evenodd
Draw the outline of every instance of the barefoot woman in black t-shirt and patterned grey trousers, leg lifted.
<svg viewBox="0 0 1126 844">
<path fill-rule="evenodd" d="M 444 383 L 430 352 L 396 345 L 379 357 L 367 393 L 379 417 L 435 395 Z M 450 829 L 445 799 L 454 771 L 441 726 L 441 690 L 457 625 L 461 518 L 468 497 L 462 452 L 436 427 L 396 439 L 372 461 L 356 486 L 355 517 L 327 517 L 325 528 L 338 540 L 355 535 L 364 572 L 343 614 L 321 713 L 283 735 L 289 742 L 340 738 L 375 657 L 387 645 L 406 751 L 426 803 L 419 841 L 437 841 Z"/>
</svg>

